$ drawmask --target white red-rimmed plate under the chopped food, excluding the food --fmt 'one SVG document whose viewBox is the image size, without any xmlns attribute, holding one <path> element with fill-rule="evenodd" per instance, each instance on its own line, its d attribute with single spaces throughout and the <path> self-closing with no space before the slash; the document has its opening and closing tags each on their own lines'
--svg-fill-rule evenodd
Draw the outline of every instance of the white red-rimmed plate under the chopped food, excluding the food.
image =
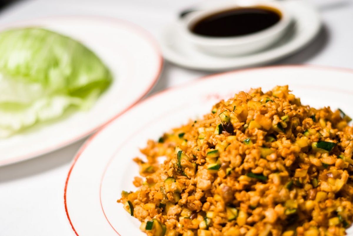
<svg viewBox="0 0 353 236">
<path fill-rule="evenodd" d="M 334 82 L 333 82 L 334 78 Z M 145 99 L 92 136 L 77 153 L 65 185 L 65 209 L 77 235 L 145 235 L 140 222 L 116 200 L 133 191 L 148 139 L 200 117 L 220 99 L 239 91 L 289 85 L 303 104 L 341 108 L 353 115 L 353 70 L 315 66 L 278 66 L 204 77 Z"/>
</svg>

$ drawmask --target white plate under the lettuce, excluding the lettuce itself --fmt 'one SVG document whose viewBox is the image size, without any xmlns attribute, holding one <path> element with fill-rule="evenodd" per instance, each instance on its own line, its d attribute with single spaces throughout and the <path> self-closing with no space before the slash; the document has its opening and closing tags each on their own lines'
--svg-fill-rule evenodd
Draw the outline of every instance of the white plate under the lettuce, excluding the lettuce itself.
<svg viewBox="0 0 353 236">
<path fill-rule="evenodd" d="M 82 42 L 108 66 L 113 83 L 89 111 L 0 139 L 0 166 L 48 153 L 90 135 L 137 103 L 161 73 L 163 59 L 155 40 L 132 23 L 106 17 L 48 17 L 0 26 L 0 30 L 25 26 L 43 27 Z"/>
</svg>

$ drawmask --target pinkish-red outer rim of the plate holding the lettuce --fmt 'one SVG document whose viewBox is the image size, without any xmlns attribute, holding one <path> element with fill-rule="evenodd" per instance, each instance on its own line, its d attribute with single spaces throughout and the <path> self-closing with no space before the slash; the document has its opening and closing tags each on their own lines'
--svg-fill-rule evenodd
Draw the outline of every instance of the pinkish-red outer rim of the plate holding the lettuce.
<svg viewBox="0 0 353 236">
<path fill-rule="evenodd" d="M 114 18 L 114 17 L 106 17 L 106 16 L 101 16 L 101 15 L 83 15 L 83 14 L 53 15 L 53 16 L 48 16 L 48 17 L 38 17 L 38 18 L 33 18 L 33 19 L 28 19 L 28 20 L 19 20 L 19 21 L 14 21 L 11 23 L 0 24 L 0 31 L 7 29 L 9 27 L 16 27 L 18 25 L 22 25 L 25 23 L 31 23 L 32 21 L 38 21 L 38 20 L 45 21 L 45 20 L 50 20 L 50 19 L 54 19 L 54 20 L 55 19 L 94 19 L 94 20 L 100 20 L 100 21 L 109 21 L 109 22 L 117 24 L 117 25 L 127 26 L 129 29 L 132 29 L 133 31 L 137 32 L 141 37 L 143 37 L 146 40 L 146 42 L 148 42 L 152 46 L 154 53 L 158 57 L 158 68 L 156 68 L 156 74 L 152 76 L 151 82 L 150 82 L 149 86 L 146 87 L 144 92 L 141 93 L 139 96 L 137 96 L 136 99 L 134 99 L 134 101 L 128 107 L 124 108 L 119 113 L 115 114 L 113 117 L 110 117 L 102 124 L 96 126 L 95 128 L 93 128 L 89 131 L 81 133 L 80 135 L 77 135 L 77 136 L 71 138 L 70 140 L 62 142 L 60 144 L 56 144 L 51 147 L 45 147 L 45 148 L 42 148 L 41 150 L 37 150 L 32 153 L 28 153 L 25 155 L 21 155 L 21 156 L 17 156 L 17 157 L 11 158 L 11 159 L 6 159 L 3 161 L 0 161 L 0 167 L 7 166 L 10 164 L 14 164 L 14 163 L 18 163 L 21 161 L 30 160 L 35 157 L 51 153 L 55 150 L 64 148 L 67 145 L 78 142 L 79 140 L 91 135 L 95 131 L 100 130 L 101 127 L 112 122 L 113 120 L 118 118 L 121 114 L 125 113 L 127 110 L 129 110 L 134 105 L 136 105 L 141 99 L 143 99 L 145 97 L 145 95 L 148 94 L 153 89 L 153 87 L 156 85 L 156 83 L 162 73 L 163 66 L 164 66 L 164 58 L 163 58 L 162 51 L 161 51 L 160 46 L 158 45 L 157 40 L 154 38 L 154 36 L 148 30 L 146 30 L 142 26 L 139 26 L 139 25 L 132 23 L 128 20 Z"/>
</svg>

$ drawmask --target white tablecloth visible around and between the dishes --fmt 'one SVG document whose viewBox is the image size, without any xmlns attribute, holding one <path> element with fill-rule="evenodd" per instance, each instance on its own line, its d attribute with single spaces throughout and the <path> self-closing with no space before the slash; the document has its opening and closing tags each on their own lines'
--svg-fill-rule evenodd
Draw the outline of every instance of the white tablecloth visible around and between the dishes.
<svg viewBox="0 0 353 236">
<path fill-rule="evenodd" d="M 276 64 L 315 64 L 353 69 L 353 1 L 312 0 L 324 26 L 304 50 Z M 50 15 L 105 15 L 136 23 L 154 36 L 191 0 L 25 0 L 0 12 L 0 24 Z M 151 93 L 205 72 L 165 63 Z M 150 94 L 151 94 L 150 93 Z M 71 160 L 84 141 L 35 159 L 0 167 L 0 235 L 73 235 L 64 209 Z M 1 154 L 0 154 L 1 155 Z"/>
</svg>

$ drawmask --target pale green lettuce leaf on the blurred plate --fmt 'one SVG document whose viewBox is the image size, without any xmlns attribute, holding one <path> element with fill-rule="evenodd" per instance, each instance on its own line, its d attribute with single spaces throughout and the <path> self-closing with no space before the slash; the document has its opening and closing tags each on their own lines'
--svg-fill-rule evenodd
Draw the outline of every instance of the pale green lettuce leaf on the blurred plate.
<svg viewBox="0 0 353 236">
<path fill-rule="evenodd" d="M 0 33 L 0 137 L 56 119 L 70 107 L 89 108 L 112 75 L 83 44 L 58 33 Z"/>
</svg>

